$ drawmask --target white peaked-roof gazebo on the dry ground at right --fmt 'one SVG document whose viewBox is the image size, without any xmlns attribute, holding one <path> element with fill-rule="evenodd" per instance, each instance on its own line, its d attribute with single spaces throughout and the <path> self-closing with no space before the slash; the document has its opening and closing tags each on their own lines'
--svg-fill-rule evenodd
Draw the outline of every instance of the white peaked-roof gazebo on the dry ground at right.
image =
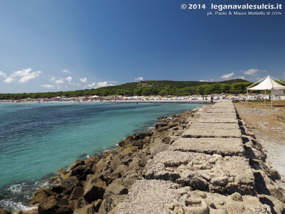
<svg viewBox="0 0 285 214">
<path fill-rule="evenodd" d="M 284 94 L 284 90 L 285 90 L 285 86 L 278 84 L 277 82 L 275 82 L 273 79 L 273 77 L 271 76 L 267 76 L 259 81 L 262 81 L 260 84 L 258 84 L 257 86 L 254 86 L 252 88 L 250 88 L 251 86 L 253 86 L 254 84 L 258 83 L 254 83 L 251 86 L 248 86 L 246 88 L 246 105 L 247 105 L 247 96 L 248 96 L 248 90 L 264 90 L 264 97 L 266 95 L 266 91 L 265 90 L 269 90 L 271 91 L 271 107 L 272 107 L 272 95 L 283 95 Z M 278 79 L 275 79 L 277 81 L 279 81 Z M 264 98 L 264 105 L 265 105 L 265 98 Z"/>
</svg>

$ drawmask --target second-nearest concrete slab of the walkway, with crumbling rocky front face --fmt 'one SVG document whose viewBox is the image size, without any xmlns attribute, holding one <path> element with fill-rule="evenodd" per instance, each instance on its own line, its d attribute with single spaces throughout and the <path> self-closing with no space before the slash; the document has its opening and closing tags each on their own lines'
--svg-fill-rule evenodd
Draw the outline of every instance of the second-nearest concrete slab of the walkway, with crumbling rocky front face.
<svg viewBox="0 0 285 214">
<path fill-rule="evenodd" d="M 165 151 L 153 159 L 155 163 L 145 174 L 148 180 L 171 180 L 192 189 L 208 189 L 224 195 L 255 193 L 254 174 L 246 158 Z"/>
</svg>

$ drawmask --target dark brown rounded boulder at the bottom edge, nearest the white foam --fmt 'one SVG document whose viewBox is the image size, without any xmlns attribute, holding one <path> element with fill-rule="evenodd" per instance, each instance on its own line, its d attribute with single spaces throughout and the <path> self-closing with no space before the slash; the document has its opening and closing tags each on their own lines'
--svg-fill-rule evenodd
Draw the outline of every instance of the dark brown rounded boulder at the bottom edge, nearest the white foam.
<svg viewBox="0 0 285 214">
<path fill-rule="evenodd" d="M 50 196 L 39 202 L 38 212 L 39 214 L 69 214 L 72 212 L 72 207 L 66 199 Z"/>
</svg>

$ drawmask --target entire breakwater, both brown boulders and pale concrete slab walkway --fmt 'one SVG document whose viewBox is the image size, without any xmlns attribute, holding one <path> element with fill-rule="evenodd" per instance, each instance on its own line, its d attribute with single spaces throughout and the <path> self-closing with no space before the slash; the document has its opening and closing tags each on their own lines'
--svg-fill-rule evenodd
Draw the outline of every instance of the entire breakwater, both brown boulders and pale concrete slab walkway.
<svg viewBox="0 0 285 214">
<path fill-rule="evenodd" d="M 28 213 L 285 212 L 280 176 L 232 102 L 160 119 L 104 157 L 59 170 L 53 187 L 35 191 L 38 209 Z"/>
</svg>

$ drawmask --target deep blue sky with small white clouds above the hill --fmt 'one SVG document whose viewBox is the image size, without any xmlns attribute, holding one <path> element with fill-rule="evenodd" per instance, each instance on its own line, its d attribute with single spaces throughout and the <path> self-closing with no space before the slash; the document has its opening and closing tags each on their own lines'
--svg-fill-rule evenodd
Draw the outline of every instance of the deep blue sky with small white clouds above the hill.
<svg viewBox="0 0 285 214">
<path fill-rule="evenodd" d="M 206 9 L 182 9 L 182 4 Z M 0 0 L 0 93 L 136 80 L 285 80 L 282 15 L 207 15 L 211 4 L 282 1 Z"/>
</svg>

